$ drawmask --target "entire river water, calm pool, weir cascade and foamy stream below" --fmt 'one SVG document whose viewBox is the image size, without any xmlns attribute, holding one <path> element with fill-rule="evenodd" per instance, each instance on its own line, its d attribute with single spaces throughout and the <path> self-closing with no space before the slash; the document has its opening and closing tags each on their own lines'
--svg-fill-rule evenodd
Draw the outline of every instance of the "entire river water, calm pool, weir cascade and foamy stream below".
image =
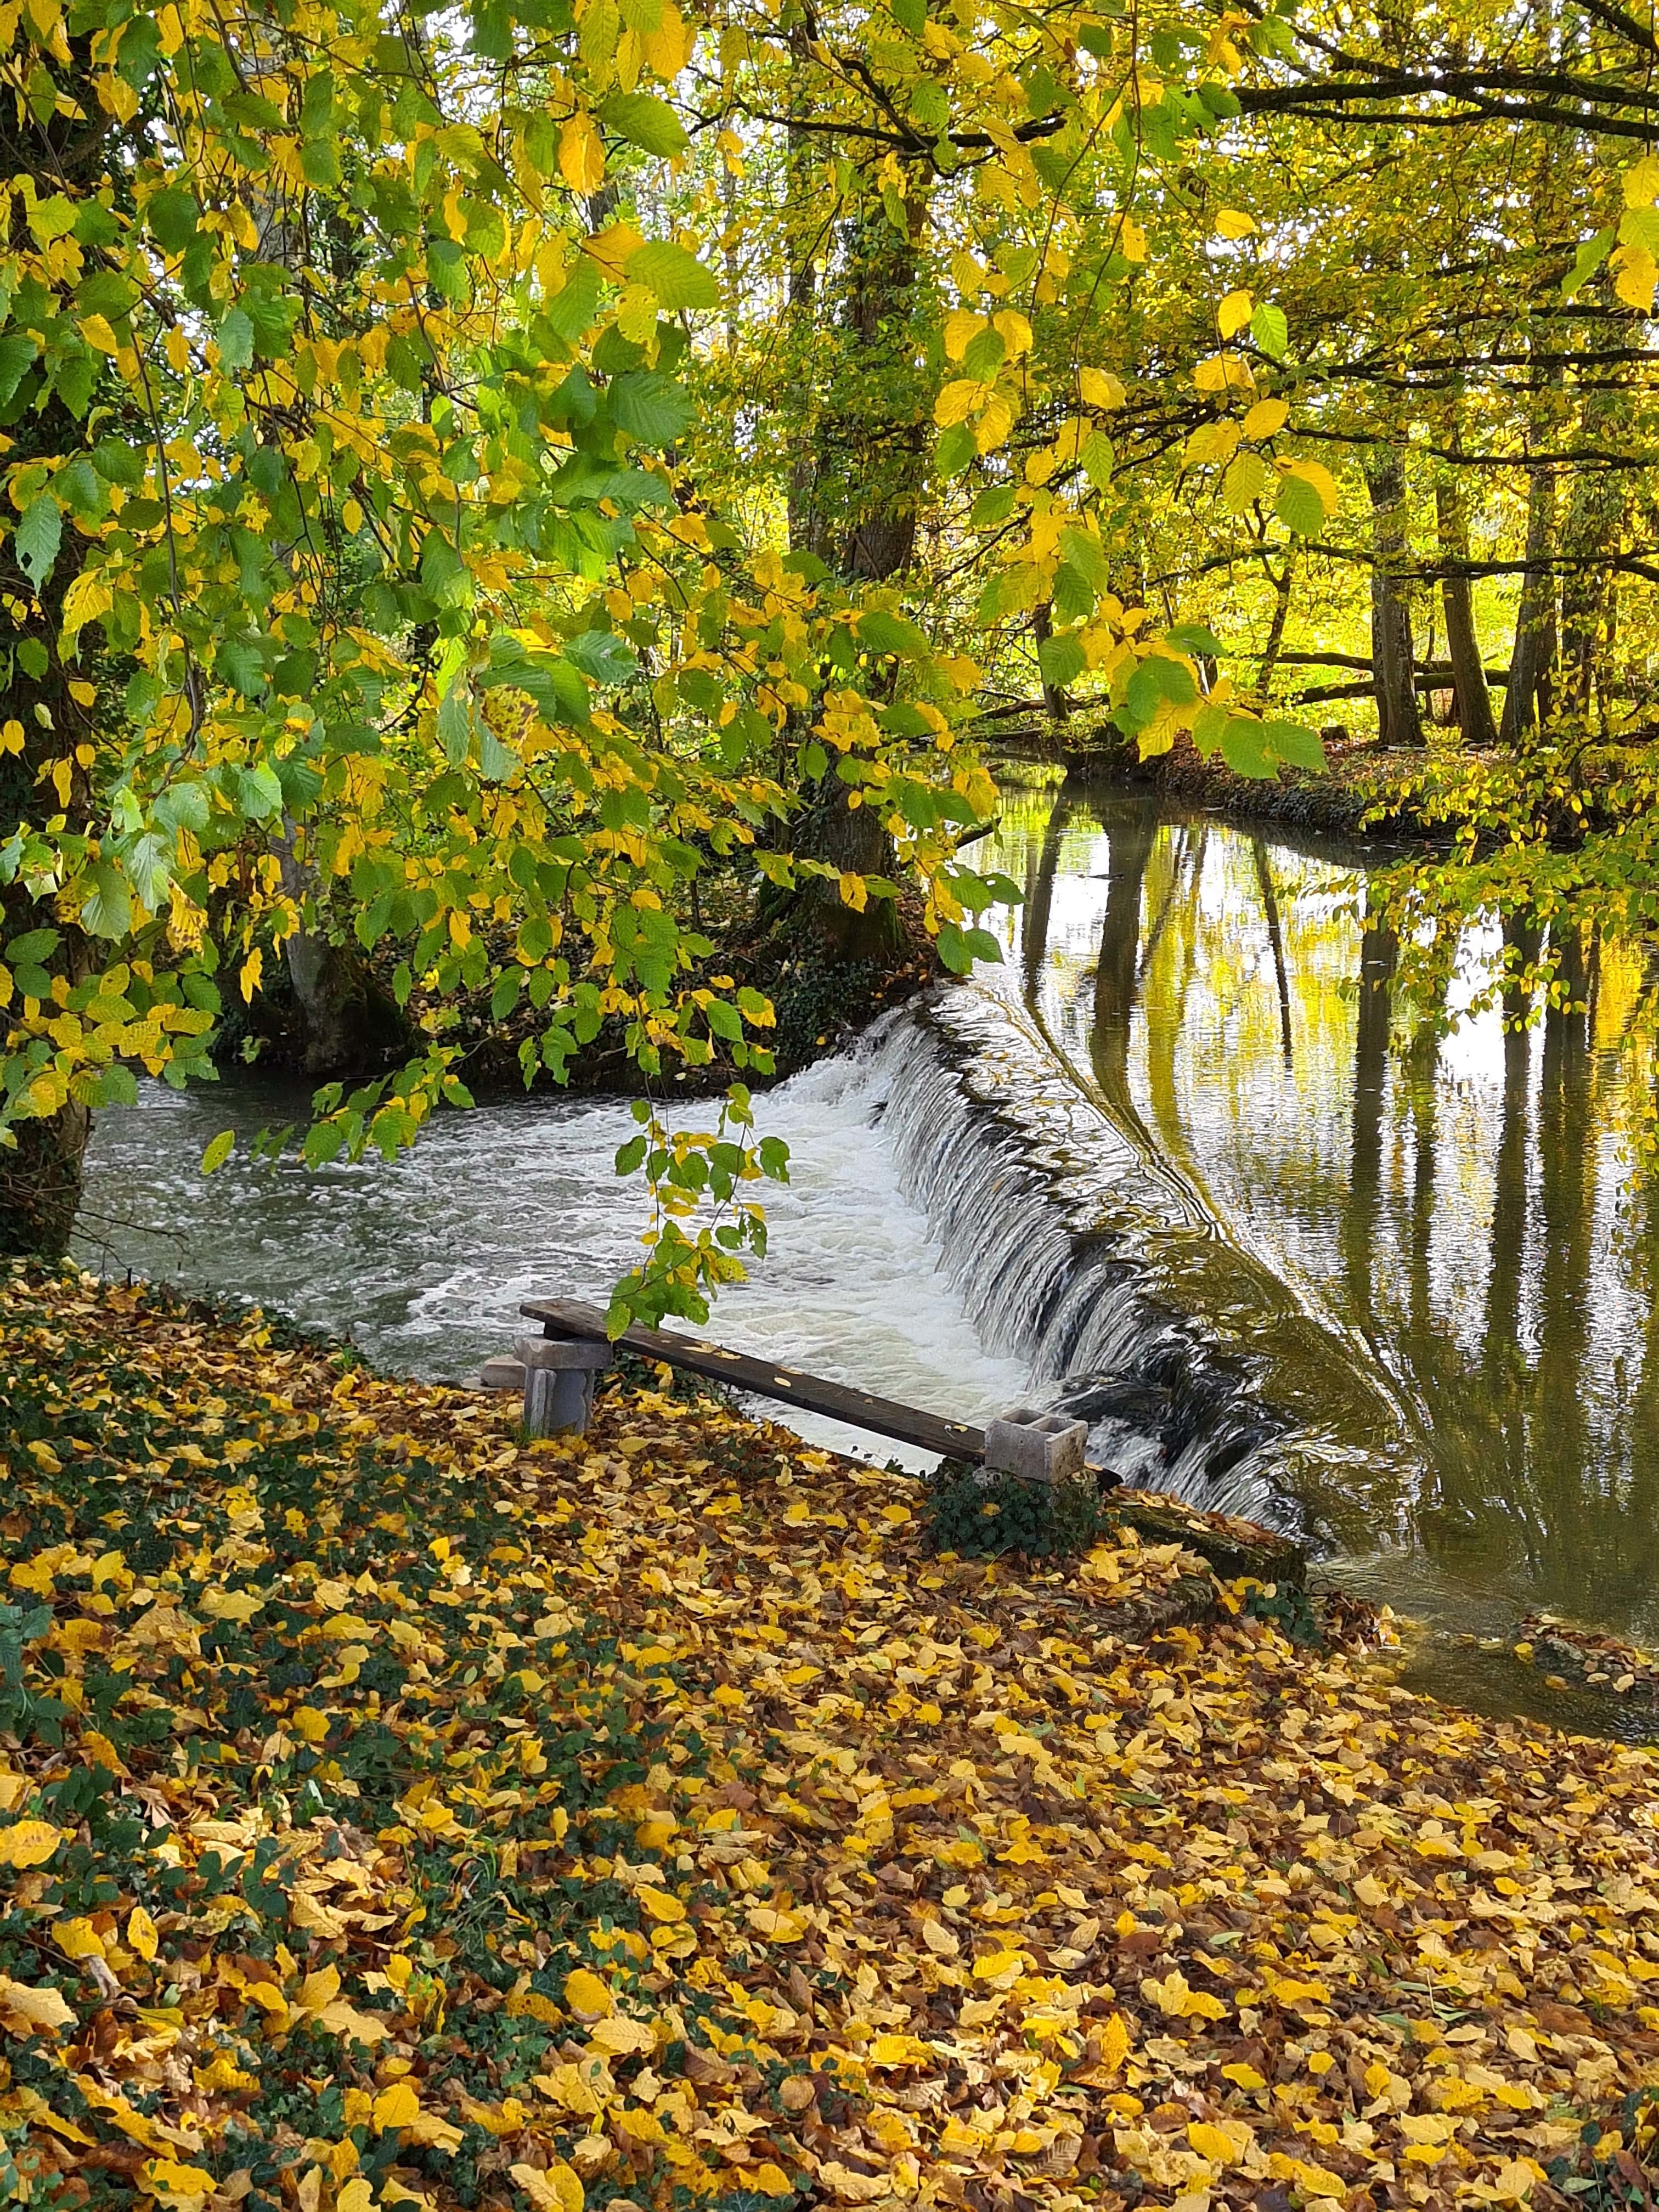
<svg viewBox="0 0 1659 2212">
<path fill-rule="evenodd" d="M 1537 1026 L 1447 1031 L 1396 989 L 1383 856 L 1352 841 L 1066 783 L 1009 787 L 982 852 L 1026 894 L 1002 967 L 761 1102 L 794 1179 L 717 1334 L 969 1420 L 1035 1391 L 1126 1475 L 1294 1526 L 1447 1630 L 1544 1606 L 1659 1641 L 1641 962 L 1579 960 L 1582 1009 Z M 1453 1015 L 1495 947 L 1467 931 Z M 197 1175 L 215 1130 L 301 1110 L 241 1082 L 100 1117 L 88 1256 L 418 1374 L 635 1256 L 619 1104 L 447 1115 L 389 1168 Z M 1422 1668 L 1537 1703 L 1506 1659 L 1442 1641 Z"/>
</svg>

